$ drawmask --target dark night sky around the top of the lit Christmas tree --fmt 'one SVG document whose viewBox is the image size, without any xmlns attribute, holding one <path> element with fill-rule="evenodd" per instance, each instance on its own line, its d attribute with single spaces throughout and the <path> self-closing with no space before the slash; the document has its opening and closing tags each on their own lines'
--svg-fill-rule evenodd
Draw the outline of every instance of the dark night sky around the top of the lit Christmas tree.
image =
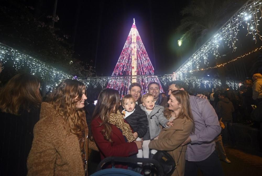
<svg viewBox="0 0 262 176">
<path fill-rule="evenodd" d="M 45 9 L 49 6 L 50 14 L 53 2 L 42 4 Z M 111 76 L 135 18 L 155 74 L 170 74 L 184 61 L 177 59 L 173 48 L 179 12 L 189 2 L 58 0 L 55 26 L 71 36 L 69 42 L 75 43 L 81 60 L 93 61 L 97 76 Z"/>
</svg>

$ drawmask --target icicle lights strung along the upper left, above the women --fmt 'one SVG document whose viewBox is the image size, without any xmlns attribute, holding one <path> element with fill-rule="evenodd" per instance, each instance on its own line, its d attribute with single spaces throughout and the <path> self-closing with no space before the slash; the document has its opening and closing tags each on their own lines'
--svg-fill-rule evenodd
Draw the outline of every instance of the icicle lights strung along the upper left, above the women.
<svg viewBox="0 0 262 176">
<path fill-rule="evenodd" d="M 0 60 L 3 64 L 7 62 L 12 62 L 13 67 L 16 70 L 21 69 L 21 67 L 27 66 L 30 69 L 32 75 L 39 75 L 41 79 L 48 79 L 51 82 L 59 82 L 64 79 L 72 79 L 73 76 L 57 70 L 56 68 L 47 65 L 46 63 L 37 60 L 25 53 L 15 50 L 11 47 L 0 43 Z"/>
</svg>

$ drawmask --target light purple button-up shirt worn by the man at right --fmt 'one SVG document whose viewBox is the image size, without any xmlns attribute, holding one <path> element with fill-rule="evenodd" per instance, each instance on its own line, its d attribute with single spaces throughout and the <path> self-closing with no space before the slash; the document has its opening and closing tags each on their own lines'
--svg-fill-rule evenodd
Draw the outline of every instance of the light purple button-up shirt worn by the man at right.
<svg viewBox="0 0 262 176">
<path fill-rule="evenodd" d="M 187 145 L 185 159 L 203 161 L 215 150 L 214 138 L 221 132 L 218 117 L 207 99 L 189 95 L 190 107 L 195 122 L 191 143 Z"/>
</svg>

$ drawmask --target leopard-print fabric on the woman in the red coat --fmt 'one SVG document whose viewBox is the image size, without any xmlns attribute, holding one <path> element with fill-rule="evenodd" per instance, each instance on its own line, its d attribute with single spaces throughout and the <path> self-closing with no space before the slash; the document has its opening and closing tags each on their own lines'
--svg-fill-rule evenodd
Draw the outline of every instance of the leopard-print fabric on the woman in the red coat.
<svg viewBox="0 0 262 176">
<path fill-rule="evenodd" d="M 124 118 L 119 110 L 117 110 L 117 113 L 110 113 L 108 122 L 121 129 L 128 142 L 133 142 L 135 140 L 129 124 L 124 121 Z"/>
</svg>

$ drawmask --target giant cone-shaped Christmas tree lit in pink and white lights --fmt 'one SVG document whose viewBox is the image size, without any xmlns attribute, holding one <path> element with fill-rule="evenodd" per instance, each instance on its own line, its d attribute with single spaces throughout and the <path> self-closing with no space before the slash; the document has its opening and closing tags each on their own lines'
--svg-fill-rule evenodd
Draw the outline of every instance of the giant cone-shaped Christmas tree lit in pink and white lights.
<svg viewBox="0 0 262 176">
<path fill-rule="evenodd" d="M 135 26 L 134 19 L 133 26 L 112 74 L 112 76 L 121 77 L 110 80 L 107 88 L 116 89 L 120 95 L 125 95 L 128 93 L 129 85 L 138 82 L 142 86 L 142 94 L 145 94 L 148 84 L 154 81 L 159 83 L 162 93 L 163 88 L 159 79 L 152 75 L 154 75 L 154 67 Z"/>
</svg>

